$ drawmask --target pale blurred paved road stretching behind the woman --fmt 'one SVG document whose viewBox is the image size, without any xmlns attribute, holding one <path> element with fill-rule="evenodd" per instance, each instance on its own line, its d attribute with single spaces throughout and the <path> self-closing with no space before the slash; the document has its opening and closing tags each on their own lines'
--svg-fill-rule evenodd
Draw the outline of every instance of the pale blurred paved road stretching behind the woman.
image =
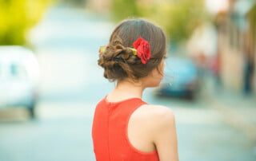
<svg viewBox="0 0 256 161">
<path fill-rule="evenodd" d="M 113 27 L 84 10 L 58 6 L 34 29 L 31 41 L 42 67 L 38 120 L 0 122 L 1 161 L 94 160 L 94 106 L 114 87 L 96 65 L 98 46 L 107 43 Z M 147 89 L 144 99 L 176 115 L 180 160 L 256 160 L 254 143 L 209 103 L 155 97 L 153 90 Z M 21 111 L 16 116 L 26 117 Z"/>
</svg>

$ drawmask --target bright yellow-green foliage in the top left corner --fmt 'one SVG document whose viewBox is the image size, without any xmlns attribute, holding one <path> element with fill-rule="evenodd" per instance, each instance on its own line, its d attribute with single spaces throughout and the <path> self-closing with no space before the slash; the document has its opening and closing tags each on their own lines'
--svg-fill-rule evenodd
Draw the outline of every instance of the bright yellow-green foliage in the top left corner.
<svg viewBox="0 0 256 161">
<path fill-rule="evenodd" d="M 0 0 L 0 45 L 24 45 L 52 0 Z"/>
</svg>

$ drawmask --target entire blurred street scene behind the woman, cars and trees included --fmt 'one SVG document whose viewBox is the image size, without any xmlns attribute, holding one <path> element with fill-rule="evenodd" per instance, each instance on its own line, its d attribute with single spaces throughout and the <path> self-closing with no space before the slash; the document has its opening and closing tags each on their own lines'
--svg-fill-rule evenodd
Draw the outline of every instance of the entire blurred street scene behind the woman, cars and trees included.
<svg viewBox="0 0 256 161">
<path fill-rule="evenodd" d="M 180 160 L 255 161 L 255 0 L 0 1 L 0 161 L 95 160 L 114 88 L 98 49 L 125 18 L 166 32 L 166 77 L 143 100 L 174 111 Z"/>
</svg>

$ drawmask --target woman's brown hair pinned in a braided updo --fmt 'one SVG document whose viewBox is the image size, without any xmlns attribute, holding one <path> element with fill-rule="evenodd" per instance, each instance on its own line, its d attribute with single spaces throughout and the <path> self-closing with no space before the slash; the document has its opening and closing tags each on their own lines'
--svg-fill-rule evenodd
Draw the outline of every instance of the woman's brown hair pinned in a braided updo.
<svg viewBox="0 0 256 161">
<path fill-rule="evenodd" d="M 150 43 L 150 60 L 142 64 L 130 48 L 142 37 Z M 121 22 L 113 31 L 104 53 L 99 54 L 98 65 L 104 69 L 104 77 L 109 81 L 134 81 L 146 77 L 158 68 L 166 54 L 166 37 L 162 29 L 142 19 L 129 19 Z M 159 72 L 159 70 L 158 70 Z"/>
</svg>

